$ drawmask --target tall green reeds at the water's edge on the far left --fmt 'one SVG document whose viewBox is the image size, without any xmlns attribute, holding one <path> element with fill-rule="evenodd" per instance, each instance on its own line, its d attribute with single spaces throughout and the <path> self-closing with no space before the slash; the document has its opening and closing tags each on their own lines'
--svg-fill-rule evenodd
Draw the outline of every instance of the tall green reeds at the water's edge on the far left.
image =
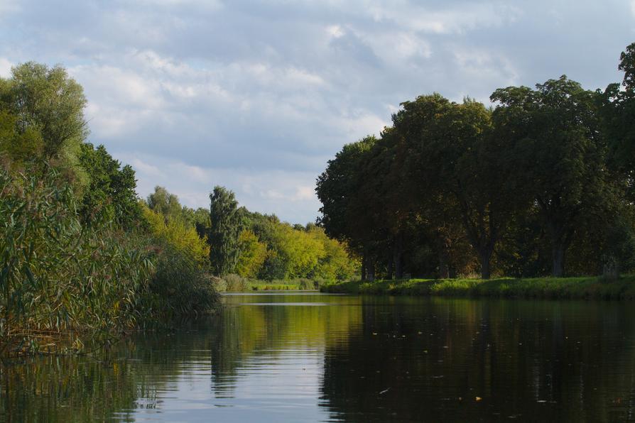
<svg viewBox="0 0 635 423">
<path fill-rule="evenodd" d="M 151 252 L 82 227 L 70 185 L 0 170 L 0 356 L 85 350 L 136 324 Z"/>
</svg>

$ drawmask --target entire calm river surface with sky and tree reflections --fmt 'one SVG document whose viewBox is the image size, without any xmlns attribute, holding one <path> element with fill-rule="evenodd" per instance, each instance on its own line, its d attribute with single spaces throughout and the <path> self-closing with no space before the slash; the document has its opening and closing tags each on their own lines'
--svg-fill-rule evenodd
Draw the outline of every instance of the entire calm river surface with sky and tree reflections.
<svg viewBox="0 0 635 423">
<path fill-rule="evenodd" d="M 231 295 L 110 361 L 0 370 L 0 420 L 635 420 L 635 304 Z"/>
</svg>

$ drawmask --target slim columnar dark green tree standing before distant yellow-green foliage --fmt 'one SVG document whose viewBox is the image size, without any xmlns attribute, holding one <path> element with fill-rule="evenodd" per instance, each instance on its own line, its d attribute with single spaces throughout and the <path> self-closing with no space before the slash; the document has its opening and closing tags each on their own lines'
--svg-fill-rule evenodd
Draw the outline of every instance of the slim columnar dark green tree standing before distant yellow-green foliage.
<svg viewBox="0 0 635 423">
<path fill-rule="evenodd" d="M 214 187 L 210 194 L 210 263 L 217 275 L 234 273 L 240 256 L 241 214 L 234 193 Z"/>
</svg>

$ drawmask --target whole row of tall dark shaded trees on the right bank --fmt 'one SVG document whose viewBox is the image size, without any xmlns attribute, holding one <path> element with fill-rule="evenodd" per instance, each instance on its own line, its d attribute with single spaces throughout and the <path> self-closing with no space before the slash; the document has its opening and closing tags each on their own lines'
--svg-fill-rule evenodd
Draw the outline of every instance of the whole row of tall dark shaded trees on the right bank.
<svg viewBox="0 0 635 423">
<path fill-rule="evenodd" d="M 635 43 L 621 84 L 565 75 L 492 106 L 405 101 L 318 177 L 318 224 L 362 279 L 617 275 L 635 266 Z M 565 260 L 566 259 L 566 260 Z"/>
</svg>

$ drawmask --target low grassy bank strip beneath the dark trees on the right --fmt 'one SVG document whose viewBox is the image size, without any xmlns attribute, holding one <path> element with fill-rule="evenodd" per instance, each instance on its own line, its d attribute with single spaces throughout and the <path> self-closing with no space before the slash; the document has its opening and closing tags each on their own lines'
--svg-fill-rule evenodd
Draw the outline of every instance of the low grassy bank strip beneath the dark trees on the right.
<svg viewBox="0 0 635 423">
<path fill-rule="evenodd" d="M 635 300 L 635 275 L 617 280 L 585 277 L 352 281 L 326 285 L 321 290 L 369 295 Z"/>
</svg>

